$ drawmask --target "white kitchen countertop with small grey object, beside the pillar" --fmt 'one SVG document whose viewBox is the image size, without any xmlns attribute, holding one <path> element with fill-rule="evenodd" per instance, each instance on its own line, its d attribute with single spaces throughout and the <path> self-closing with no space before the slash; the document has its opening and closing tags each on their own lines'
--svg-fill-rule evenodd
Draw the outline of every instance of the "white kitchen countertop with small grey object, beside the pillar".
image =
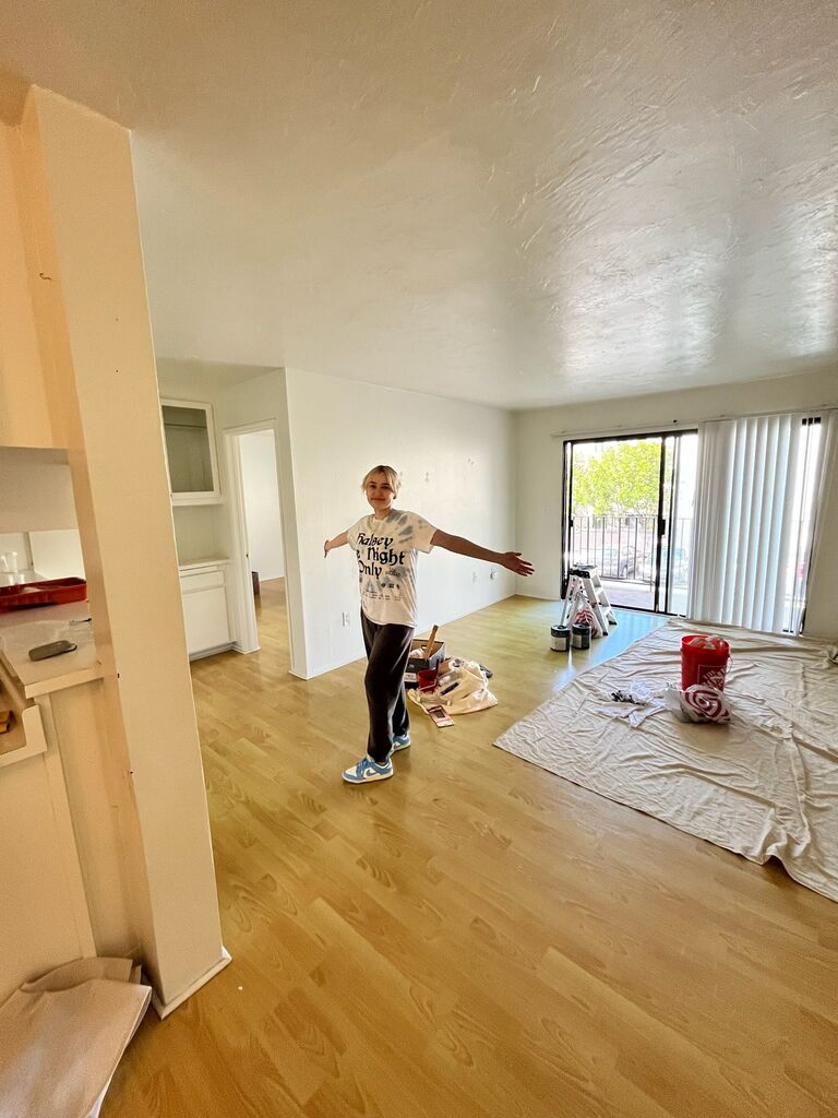
<svg viewBox="0 0 838 1118">
<path fill-rule="evenodd" d="M 91 616 L 86 601 L 66 606 L 39 606 L 0 614 L 0 660 L 20 681 L 27 699 L 49 694 L 64 688 L 98 680 L 103 675 Z M 80 622 L 82 624 L 72 624 Z M 30 660 L 29 650 L 53 641 L 72 641 L 76 652 L 66 652 L 49 660 Z"/>
</svg>

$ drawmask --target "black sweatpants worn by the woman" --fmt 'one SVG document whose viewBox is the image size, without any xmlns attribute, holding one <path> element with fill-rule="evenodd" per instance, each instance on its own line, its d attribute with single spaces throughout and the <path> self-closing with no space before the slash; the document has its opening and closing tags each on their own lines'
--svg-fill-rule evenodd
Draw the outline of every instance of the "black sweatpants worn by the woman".
<svg viewBox="0 0 838 1118">
<path fill-rule="evenodd" d="M 410 625 L 378 625 L 361 610 L 361 629 L 366 648 L 366 705 L 370 736 L 366 752 L 383 765 L 393 748 L 393 736 L 408 732 L 404 669 L 408 666 L 413 628 Z"/>
</svg>

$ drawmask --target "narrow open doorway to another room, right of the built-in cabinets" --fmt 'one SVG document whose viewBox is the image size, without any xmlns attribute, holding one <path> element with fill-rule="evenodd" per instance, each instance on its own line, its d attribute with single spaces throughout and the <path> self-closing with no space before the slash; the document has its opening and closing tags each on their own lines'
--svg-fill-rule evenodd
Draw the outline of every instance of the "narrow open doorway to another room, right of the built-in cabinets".
<svg viewBox="0 0 838 1118">
<path fill-rule="evenodd" d="M 240 652 L 257 652 L 270 644 L 275 653 L 285 650 L 292 670 L 293 627 L 275 425 L 265 421 L 229 429 L 225 439 L 232 498 L 237 647 Z"/>
</svg>

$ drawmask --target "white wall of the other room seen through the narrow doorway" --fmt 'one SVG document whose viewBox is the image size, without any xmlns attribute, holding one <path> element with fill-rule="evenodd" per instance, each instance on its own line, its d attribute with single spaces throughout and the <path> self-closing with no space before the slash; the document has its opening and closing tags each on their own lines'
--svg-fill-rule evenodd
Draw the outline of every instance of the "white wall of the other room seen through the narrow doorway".
<svg viewBox="0 0 838 1118">
<path fill-rule="evenodd" d="M 261 581 L 282 578 L 285 561 L 274 432 L 241 435 L 239 454 L 250 569 L 258 571 Z"/>
</svg>

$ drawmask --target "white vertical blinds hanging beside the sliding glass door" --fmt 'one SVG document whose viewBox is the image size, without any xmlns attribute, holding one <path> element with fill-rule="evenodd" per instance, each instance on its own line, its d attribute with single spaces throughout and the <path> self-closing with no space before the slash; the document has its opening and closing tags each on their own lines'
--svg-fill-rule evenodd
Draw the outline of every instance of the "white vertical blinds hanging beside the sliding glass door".
<svg viewBox="0 0 838 1118">
<path fill-rule="evenodd" d="M 758 416 L 698 430 L 692 617 L 799 633 L 827 416 Z"/>
</svg>

